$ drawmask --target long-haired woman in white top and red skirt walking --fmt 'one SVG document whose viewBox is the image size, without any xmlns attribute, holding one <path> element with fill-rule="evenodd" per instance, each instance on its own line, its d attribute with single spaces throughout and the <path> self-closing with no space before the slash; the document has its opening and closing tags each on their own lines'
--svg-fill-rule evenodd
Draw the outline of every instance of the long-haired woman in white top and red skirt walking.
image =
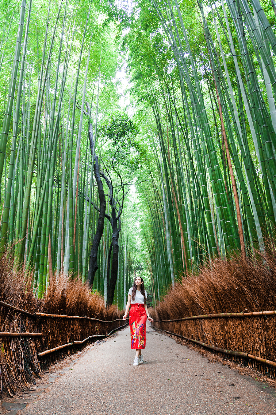
<svg viewBox="0 0 276 415">
<path fill-rule="evenodd" d="M 133 287 L 128 292 L 125 315 L 122 317 L 123 320 L 127 318 L 129 308 L 131 348 L 136 349 L 133 366 L 138 366 L 139 363 L 144 363 L 141 349 L 146 347 L 146 319 L 150 322 L 154 321 L 149 316 L 146 306 L 146 291 L 143 278 L 136 277 Z"/>
</svg>

